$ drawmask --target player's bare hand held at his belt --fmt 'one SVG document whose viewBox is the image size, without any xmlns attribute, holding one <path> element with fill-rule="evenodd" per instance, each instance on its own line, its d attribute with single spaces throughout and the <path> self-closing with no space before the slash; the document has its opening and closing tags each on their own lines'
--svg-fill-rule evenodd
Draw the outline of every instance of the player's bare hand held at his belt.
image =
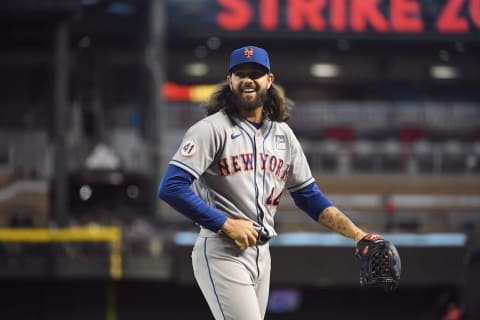
<svg viewBox="0 0 480 320">
<path fill-rule="evenodd" d="M 222 232 L 232 238 L 242 250 L 257 243 L 258 231 L 249 220 L 227 218 Z"/>
</svg>

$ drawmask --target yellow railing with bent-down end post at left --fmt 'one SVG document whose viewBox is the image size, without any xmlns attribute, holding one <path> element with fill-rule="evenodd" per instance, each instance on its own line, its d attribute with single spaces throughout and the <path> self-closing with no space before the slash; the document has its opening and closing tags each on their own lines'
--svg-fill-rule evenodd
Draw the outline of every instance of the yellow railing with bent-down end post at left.
<svg viewBox="0 0 480 320">
<path fill-rule="evenodd" d="M 122 277 L 122 232 L 118 227 L 0 228 L 0 242 L 109 242 L 110 276 L 115 280 Z"/>
</svg>

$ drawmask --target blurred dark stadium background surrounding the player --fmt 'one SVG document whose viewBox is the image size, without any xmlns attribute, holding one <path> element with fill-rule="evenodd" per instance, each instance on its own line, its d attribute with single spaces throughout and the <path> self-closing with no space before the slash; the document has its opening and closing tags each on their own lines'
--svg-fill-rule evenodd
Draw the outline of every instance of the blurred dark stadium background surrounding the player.
<svg viewBox="0 0 480 320">
<path fill-rule="evenodd" d="M 480 319 L 480 1 L 0 2 L 0 319 L 210 319 L 156 198 L 229 52 L 269 50 L 320 188 L 403 258 L 282 199 L 267 319 Z M 241 301 L 239 301 L 241 303 Z"/>
</svg>

